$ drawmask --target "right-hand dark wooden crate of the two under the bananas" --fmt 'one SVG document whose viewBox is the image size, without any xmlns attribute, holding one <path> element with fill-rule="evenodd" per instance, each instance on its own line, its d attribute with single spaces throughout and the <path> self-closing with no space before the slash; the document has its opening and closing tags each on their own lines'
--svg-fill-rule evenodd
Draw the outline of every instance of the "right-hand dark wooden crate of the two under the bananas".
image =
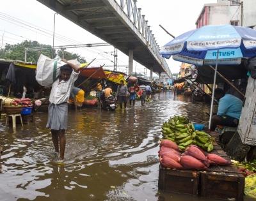
<svg viewBox="0 0 256 201">
<path fill-rule="evenodd" d="M 205 198 L 243 200 L 244 176 L 234 166 L 211 167 L 200 172 L 200 195 Z"/>
</svg>

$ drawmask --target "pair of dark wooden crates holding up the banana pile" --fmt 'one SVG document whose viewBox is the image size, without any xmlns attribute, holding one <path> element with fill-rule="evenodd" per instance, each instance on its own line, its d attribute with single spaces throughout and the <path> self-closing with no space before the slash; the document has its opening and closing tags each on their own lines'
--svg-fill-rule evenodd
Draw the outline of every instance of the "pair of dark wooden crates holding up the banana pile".
<svg viewBox="0 0 256 201">
<path fill-rule="evenodd" d="M 212 153 L 223 158 L 229 157 L 218 144 L 214 145 Z M 243 200 L 244 176 L 233 165 L 210 167 L 204 171 L 171 170 L 160 165 L 158 188 L 168 193 Z"/>
</svg>

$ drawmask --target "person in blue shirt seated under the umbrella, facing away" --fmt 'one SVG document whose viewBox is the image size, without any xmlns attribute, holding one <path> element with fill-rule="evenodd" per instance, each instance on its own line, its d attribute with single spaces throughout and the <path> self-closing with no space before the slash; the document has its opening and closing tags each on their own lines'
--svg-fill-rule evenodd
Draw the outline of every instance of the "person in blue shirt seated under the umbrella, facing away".
<svg viewBox="0 0 256 201">
<path fill-rule="evenodd" d="M 215 89 L 215 98 L 219 101 L 217 115 L 212 116 L 211 130 L 217 125 L 236 127 L 239 122 L 243 101 L 232 94 L 225 94 L 222 89 Z"/>
</svg>

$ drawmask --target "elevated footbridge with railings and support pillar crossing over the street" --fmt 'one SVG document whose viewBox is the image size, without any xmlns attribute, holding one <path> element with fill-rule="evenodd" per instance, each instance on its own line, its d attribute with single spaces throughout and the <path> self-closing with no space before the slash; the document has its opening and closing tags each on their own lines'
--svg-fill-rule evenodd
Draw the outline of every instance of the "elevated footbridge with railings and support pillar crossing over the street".
<svg viewBox="0 0 256 201">
<path fill-rule="evenodd" d="M 157 74 L 172 73 L 159 54 L 159 46 L 137 0 L 37 0 L 63 17 L 83 27 Z"/>
</svg>

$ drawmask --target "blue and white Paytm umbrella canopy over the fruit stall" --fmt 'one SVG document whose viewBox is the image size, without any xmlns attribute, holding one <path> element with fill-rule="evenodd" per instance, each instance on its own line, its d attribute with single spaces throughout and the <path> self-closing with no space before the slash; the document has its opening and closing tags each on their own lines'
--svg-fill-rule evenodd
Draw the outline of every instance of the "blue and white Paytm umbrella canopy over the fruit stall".
<svg viewBox="0 0 256 201">
<path fill-rule="evenodd" d="M 164 45 L 160 54 L 197 66 L 240 64 L 241 58 L 256 56 L 256 30 L 231 25 L 209 25 L 181 34 Z"/>
</svg>

